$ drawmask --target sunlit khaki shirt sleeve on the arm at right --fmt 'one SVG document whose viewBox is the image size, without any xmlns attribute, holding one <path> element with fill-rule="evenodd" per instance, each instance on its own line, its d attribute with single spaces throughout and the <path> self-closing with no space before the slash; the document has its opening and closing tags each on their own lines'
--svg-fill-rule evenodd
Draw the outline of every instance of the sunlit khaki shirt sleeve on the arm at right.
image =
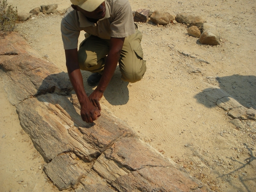
<svg viewBox="0 0 256 192">
<path fill-rule="evenodd" d="M 125 4 L 114 4 L 115 11 L 111 23 L 111 37 L 124 38 L 135 33 L 131 5 L 127 0 Z"/>
</svg>

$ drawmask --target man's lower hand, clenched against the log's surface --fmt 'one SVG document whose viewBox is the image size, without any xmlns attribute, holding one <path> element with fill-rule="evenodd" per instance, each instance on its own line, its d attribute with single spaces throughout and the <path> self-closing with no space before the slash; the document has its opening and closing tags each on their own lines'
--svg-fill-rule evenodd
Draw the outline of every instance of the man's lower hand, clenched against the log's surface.
<svg viewBox="0 0 256 192">
<path fill-rule="evenodd" d="M 99 109 L 94 106 L 90 101 L 81 105 L 81 118 L 85 122 L 92 123 L 100 116 Z"/>
</svg>

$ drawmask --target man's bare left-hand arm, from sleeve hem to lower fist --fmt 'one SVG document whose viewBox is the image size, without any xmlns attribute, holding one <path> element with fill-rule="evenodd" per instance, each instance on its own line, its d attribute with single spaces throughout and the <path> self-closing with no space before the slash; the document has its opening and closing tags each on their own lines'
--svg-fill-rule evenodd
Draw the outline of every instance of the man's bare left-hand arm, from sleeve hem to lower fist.
<svg viewBox="0 0 256 192">
<path fill-rule="evenodd" d="M 99 109 L 95 107 L 84 90 L 83 77 L 78 63 L 77 49 L 65 50 L 67 72 L 81 105 L 81 118 L 85 122 L 93 122 L 100 116 Z"/>
</svg>

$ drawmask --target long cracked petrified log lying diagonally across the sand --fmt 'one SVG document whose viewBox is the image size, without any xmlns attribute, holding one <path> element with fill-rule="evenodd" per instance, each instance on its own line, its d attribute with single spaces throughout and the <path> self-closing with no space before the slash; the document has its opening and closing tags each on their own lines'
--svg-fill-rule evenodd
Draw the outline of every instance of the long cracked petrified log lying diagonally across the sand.
<svg viewBox="0 0 256 192">
<path fill-rule="evenodd" d="M 146 145 L 108 110 L 94 123 L 82 121 L 67 74 L 40 58 L 20 35 L 1 37 L 0 44 L 0 73 L 9 100 L 59 189 L 204 191 L 199 180 Z M 71 159 L 70 153 L 79 158 Z"/>
</svg>

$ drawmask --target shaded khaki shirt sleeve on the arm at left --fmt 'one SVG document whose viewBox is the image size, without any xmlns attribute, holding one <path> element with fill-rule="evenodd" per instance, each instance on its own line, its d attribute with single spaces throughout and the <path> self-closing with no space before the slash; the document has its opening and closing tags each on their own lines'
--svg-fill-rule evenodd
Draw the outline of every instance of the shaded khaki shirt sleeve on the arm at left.
<svg viewBox="0 0 256 192">
<path fill-rule="evenodd" d="M 78 15 L 74 9 L 69 9 L 61 20 L 61 37 L 64 49 L 76 49 L 80 35 Z"/>
</svg>

